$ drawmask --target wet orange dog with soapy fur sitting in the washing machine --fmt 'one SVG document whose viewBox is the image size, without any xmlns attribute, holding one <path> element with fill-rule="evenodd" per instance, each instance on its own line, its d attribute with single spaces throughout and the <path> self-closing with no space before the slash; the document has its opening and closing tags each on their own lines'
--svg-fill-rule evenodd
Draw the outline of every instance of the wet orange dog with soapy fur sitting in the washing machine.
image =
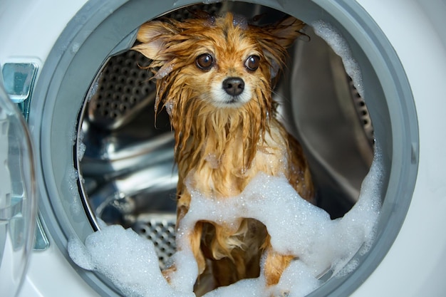
<svg viewBox="0 0 446 297">
<path fill-rule="evenodd" d="M 274 117 L 271 97 L 286 48 L 304 23 L 288 17 L 278 24 L 252 26 L 227 13 L 187 21 L 149 21 L 133 49 L 152 60 L 160 102 L 175 131 L 177 226 L 190 206 L 192 187 L 207 197 L 240 194 L 257 172 L 284 175 L 304 199 L 313 184 L 299 142 Z M 214 286 L 259 276 L 266 252 L 266 284 L 278 283 L 292 255 L 272 251 L 263 224 L 239 218 L 236 228 L 199 222 L 190 246 L 199 274 L 211 271 Z M 169 271 L 163 271 L 169 278 Z"/>
</svg>

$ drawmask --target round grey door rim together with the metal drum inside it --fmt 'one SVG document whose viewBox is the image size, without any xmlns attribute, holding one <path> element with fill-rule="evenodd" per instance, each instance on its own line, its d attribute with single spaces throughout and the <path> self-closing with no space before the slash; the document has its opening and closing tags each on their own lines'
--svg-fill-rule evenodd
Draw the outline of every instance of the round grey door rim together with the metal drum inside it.
<svg viewBox="0 0 446 297">
<path fill-rule="evenodd" d="M 385 257 L 410 204 L 419 139 L 413 95 L 393 46 L 356 2 L 267 2 L 268 7 L 231 1 L 193 9 L 250 15 L 266 11 L 273 20 L 285 12 L 308 24 L 311 41 L 304 38 L 290 51 L 291 62 L 276 93 L 292 98 L 284 100 L 286 108 L 279 113 L 308 152 L 321 206 L 332 217 L 341 217 L 355 204 L 379 145 L 382 209 L 375 241 L 368 253 L 354 256 L 353 273 L 328 276 L 315 292 L 347 296 Z M 136 111 L 149 113 L 155 95 L 153 85 L 146 83 L 149 73 L 139 67 L 145 61 L 128 50 L 141 24 L 167 12 L 185 18 L 187 9 L 177 7 L 188 5 L 192 1 L 173 6 L 165 1 L 89 1 L 49 53 L 36 82 L 29 122 L 41 160 L 39 184 L 45 185 L 40 211 L 60 249 L 69 240 L 85 241 L 105 222 L 124 224 L 147 237 L 153 229 L 161 230 L 157 245 L 170 256 L 172 205 L 159 205 L 150 197 L 175 193 L 172 135 L 168 120 L 158 123 L 158 130 L 135 128 L 147 125 L 147 115 Z M 337 51 L 336 42 L 323 36 L 333 28 L 331 36 L 346 43 L 348 53 Z M 361 80 L 348 72 L 340 56 L 355 58 Z M 336 197 L 336 203 L 326 197 Z M 99 273 L 78 273 L 101 295 L 119 294 Z"/>
</svg>

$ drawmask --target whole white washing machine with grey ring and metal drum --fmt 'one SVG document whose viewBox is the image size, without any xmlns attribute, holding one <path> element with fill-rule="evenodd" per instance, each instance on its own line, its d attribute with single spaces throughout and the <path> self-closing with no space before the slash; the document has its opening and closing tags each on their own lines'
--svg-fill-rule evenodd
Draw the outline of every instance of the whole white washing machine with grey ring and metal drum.
<svg viewBox="0 0 446 297">
<path fill-rule="evenodd" d="M 444 0 L 3 1 L 2 296 L 121 296 L 68 254 L 103 224 L 156 242 L 160 266 L 175 251 L 172 131 L 166 115 L 154 123 L 147 61 L 130 48 L 145 21 L 195 9 L 307 24 L 275 94 L 333 219 L 356 203 L 380 147 L 373 244 L 308 296 L 445 296 Z"/>
</svg>

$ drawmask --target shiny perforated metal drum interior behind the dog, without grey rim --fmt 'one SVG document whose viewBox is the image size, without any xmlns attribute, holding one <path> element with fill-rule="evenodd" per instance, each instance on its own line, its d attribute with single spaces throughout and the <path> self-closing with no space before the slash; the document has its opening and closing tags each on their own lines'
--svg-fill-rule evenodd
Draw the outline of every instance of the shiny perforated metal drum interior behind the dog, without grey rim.
<svg viewBox="0 0 446 297">
<path fill-rule="evenodd" d="M 266 6 L 223 2 L 190 10 L 233 11 L 264 23 L 283 13 Z M 246 11 L 249 14 L 246 15 Z M 318 206 L 341 217 L 358 199 L 373 159 L 373 125 L 341 58 L 310 26 L 296 41 L 274 90 L 279 117 L 304 146 L 318 191 Z M 95 229 L 122 224 L 152 240 L 160 266 L 175 252 L 173 133 L 165 110 L 155 123 L 155 81 L 134 51 L 108 58 L 85 96 L 76 137 L 81 199 Z"/>
</svg>

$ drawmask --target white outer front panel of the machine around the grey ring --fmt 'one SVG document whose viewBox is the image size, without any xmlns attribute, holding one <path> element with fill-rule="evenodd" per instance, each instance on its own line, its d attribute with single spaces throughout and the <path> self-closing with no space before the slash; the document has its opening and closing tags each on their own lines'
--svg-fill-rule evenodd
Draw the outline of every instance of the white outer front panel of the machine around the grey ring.
<svg viewBox="0 0 446 297">
<path fill-rule="evenodd" d="M 419 149 L 415 151 L 415 187 L 398 236 L 370 276 L 358 279 L 361 283 L 351 296 L 445 296 L 446 2 L 358 0 L 358 4 L 388 38 L 404 68 L 418 118 Z M 66 25 L 84 5 L 83 0 L 4 1 L 0 4 L 0 64 L 32 62 L 39 70 L 43 68 Z M 178 6 L 172 1 L 172 9 Z M 41 79 L 38 71 L 37 80 Z M 28 128 L 36 137 L 35 130 L 40 128 L 34 123 L 31 120 Z M 67 258 L 67 251 L 50 233 L 47 236 L 50 245 L 33 252 L 19 296 L 100 296 L 95 286 L 79 275 L 81 269 Z"/>
</svg>

